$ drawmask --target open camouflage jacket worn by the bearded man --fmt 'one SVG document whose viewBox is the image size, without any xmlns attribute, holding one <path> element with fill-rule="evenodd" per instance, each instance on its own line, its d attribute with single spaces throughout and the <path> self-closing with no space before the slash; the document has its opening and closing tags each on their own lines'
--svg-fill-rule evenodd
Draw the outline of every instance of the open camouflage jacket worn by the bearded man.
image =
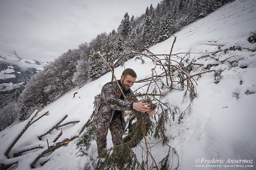
<svg viewBox="0 0 256 170">
<path fill-rule="evenodd" d="M 106 83 L 103 85 L 101 89 L 101 93 L 99 96 L 99 100 L 97 102 L 97 106 L 95 108 L 94 118 L 93 122 L 96 122 L 102 113 L 104 116 L 107 116 L 109 118 L 108 125 L 112 121 L 113 114 L 115 110 L 119 111 L 129 111 L 131 110 L 131 105 L 133 102 L 137 102 L 137 97 L 133 93 L 131 89 L 130 91 L 125 94 L 125 97 L 128 101 L 119 99 L 122 92 L 120 88 L 118 87 L 118 84 L 116 81 Z M 125 128 L 125 120 L 122 117 L 122 122 Z"/>
</svg>

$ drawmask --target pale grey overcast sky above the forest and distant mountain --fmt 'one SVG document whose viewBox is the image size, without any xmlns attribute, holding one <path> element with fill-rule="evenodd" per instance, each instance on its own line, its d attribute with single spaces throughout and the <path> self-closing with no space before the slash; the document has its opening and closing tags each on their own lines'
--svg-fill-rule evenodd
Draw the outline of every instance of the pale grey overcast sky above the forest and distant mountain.
<svg viewBox="0 0 256 170">
<path fill-rule="evenodd" d="M 161 0 L 0 0 L 0 49 L 41 62 L 117 30 Z"/>
</svg>

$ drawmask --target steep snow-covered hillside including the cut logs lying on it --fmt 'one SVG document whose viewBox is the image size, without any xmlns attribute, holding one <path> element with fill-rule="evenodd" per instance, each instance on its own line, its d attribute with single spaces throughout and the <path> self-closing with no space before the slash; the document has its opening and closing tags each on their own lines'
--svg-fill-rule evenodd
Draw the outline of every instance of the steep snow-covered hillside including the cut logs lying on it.
<svg viewBox="0 0 256 170">
<path fill-rule="evenodd" d="M 163 93 L 168 92 L 161 98 L 162 102 L 168 106 L 177 105 L 181 112 L 186 108 L 191 111 L 184 114 L 181 122 L 166 122 L 168 145 L 172 148 L 163 146 L 161 138 L 145 137 L 150 147 L 147 148 L 143 140 L 133 149 L 139 162 L 144 160 L 149 167 L 153 164 L 160 169 L 160 162 L 167 160 L 166 163 L 170 163 L 168 169 L 172 170 L 176 167 L 184 170 L 255 169 L 256 52 L 255 43 L 247 40 L 251 32 L 256 31 L 255 6 L 255 0 L 235 0 L 175 34 L 172 65 L 182 58 L 193 63 L 195 68 L 203 67 L 192 72 L 197 96 L 189 105 L 186 90 L 154 86 Z M 158 57 L 165 61 L 161 55 L 170 54 L 173 42 L 174 37 L 170 37 L 149 51 L 159 54 Z M 145 57 L 145 64 L 142 64 L 135 58 L 125 62 L 125 68 L 135 70 L 137 81 L 151 77 L 155 63 Z M 115 68 L 118 79 L 123 70 L 122 67 Z M 158 65 L 153 72 L 160 74 L 164 70 Z M 203 74 L 199 76 L 200 73 Z M 107 73 L 80 88 L 76 87 L 40 110 L 34 119 L 37 111 L 28 120 L 1 131 L 0 164 L 10 165 L 9 170 L 27 170 L 40 158 L 34 164 L 35 170 L 95 169 L 96 142 L 91 141 L 90 147 L 79 149 L 76 137 L 92 114 L 94 96 L 111 77 L 111 73 Z M 143 93 L 147 90 L 145 84 L 135 83 L 132 89 Z M 155 120 L 153 116 L 152 119 Z M 30 121 L 33 124 L 24 131 Z M 7 158 L 5 151 L 20 134 L 23 135 Z M 64 146 L 55 148 L 60 142 Z M 107 143 L 107 148 L 113 146 L 110 133 Z M 147 149 L 150 154 L 146 154 Z M 17 157 L 13 157 L 15 153 L 19 153 Z M 164 159 L 167 155 L 168 159 Z"/>
</svg>

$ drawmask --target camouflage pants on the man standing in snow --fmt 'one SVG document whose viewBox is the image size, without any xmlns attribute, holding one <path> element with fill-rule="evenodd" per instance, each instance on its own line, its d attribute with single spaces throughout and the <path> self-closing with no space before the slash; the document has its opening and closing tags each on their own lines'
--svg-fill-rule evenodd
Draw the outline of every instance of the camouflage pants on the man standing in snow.
<svg viewBox="0 0 256 170">
<path fill-rule="evenodd" d="M 94 122 L 94 133 L 98 147 L 98 155 L 101 155 L 107 150 L 107 133 L 110 118 L 107 115 L 102 115 Z M 121 115 L 116 116 L 109 124 L 109 130 L 112 136 L 112 142 L 115 147 L 123 148 L 123 132 L 124 127 L 121 120 Z"/>
</svg>

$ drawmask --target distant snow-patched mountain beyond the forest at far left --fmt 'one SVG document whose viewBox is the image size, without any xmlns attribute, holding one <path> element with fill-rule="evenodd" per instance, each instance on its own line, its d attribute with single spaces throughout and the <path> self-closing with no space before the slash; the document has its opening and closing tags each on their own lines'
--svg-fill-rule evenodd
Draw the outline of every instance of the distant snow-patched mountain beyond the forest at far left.
<svg viewBox="0 0 256 170">
<path fill-rule="evenodd" d="M 0 99 L 42 70 L 46 63 L 24 59 L 16 51 L 0 50 Z"/>
</svg>

